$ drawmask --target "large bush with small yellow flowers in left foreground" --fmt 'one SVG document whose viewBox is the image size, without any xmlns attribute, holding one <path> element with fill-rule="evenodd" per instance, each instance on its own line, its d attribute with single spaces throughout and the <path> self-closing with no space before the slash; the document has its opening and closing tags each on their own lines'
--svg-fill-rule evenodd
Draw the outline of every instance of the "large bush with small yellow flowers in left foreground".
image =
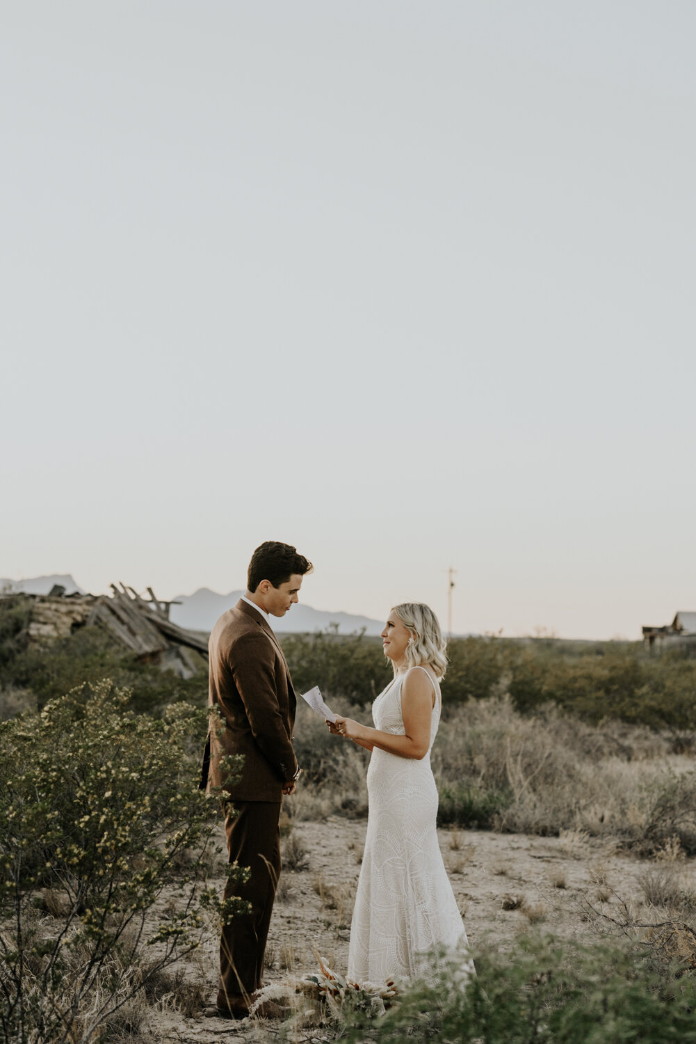
<svg viewBox="0 0 696 1044">
<path fill-rule="evenodd" d="M 0 723 L 5 1041 L 87 1044 L 198 945 L 206 911 L 245 908 L 206 885 L 217 803 L 197 789 L 201 712 L 155 720 L 129 695 L 102 682 Z"/>
</svg>

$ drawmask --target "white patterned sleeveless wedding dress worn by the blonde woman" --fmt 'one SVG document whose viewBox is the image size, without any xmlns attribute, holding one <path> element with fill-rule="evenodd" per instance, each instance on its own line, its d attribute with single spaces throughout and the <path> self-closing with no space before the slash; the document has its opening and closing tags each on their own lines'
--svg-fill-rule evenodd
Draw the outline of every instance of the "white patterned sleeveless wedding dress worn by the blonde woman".
<svg viewBox="0 0 696 1044">
<path fill-rule="evenodd" d="M 411 670 L 424 670 L 412 667 Z M 431 679 L 430 673 L 426 671 Z M 375 728 L 405 735 L 399 674 L 373 704 Z M 430 751 L 440 717 L 435 688 L 430 746 L 422 761 L 375 748 L 367 769 L 369 815 L 351 927 L 349 978 L 384 982 L 423 974 L 433 949 L 466 947 L 435 829 L 437 788 Z M 469 965 L 466 971 L 473 971 Z"/>
</svg>

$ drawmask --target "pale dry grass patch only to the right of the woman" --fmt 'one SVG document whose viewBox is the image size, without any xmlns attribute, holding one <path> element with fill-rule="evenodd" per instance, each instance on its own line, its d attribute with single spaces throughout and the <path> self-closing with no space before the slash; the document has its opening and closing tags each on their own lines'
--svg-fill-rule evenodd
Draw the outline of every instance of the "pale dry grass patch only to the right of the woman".
<svg viewBox="0 0 696 1044">
<path fill-rule="evenodd" d="M 696 852 L 693 761 L 642 727 L 472 701 L 443 718 L 432 763 L 440 790 L 464 789 L 481 807 L 497 801 L 495 827 L 561 836 L 569 853 L 613 837 L 649 854 L 673 835 Z"/>
</svg>

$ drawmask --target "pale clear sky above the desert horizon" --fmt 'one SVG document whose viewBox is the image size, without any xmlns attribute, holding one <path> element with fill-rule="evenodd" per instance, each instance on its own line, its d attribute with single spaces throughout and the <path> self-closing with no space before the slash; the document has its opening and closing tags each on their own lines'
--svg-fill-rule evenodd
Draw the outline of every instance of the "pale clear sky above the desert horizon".
<svg viewBox="0 0 696 1044">
<path fill-rule="evenodd" d="M 696 610 L 692 0 L 5 0 L 0 575 Z"/>
</svg>

